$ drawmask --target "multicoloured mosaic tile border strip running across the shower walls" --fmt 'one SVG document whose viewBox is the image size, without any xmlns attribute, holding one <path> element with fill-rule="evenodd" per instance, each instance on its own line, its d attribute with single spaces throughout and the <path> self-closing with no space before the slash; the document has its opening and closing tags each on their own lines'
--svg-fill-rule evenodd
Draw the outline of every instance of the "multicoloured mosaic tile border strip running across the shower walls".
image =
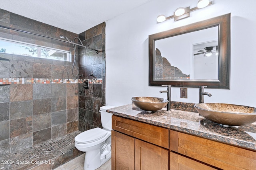
<svg viewBox="0 0 256 170">
<path fill-rule="evenodd" d="M 0 78 L 0 84 L 84 83 L 86 79 L 70 78 Z M 90 84 L 102 84 L 102 78 L 87 79 Z"/>
</svg>

